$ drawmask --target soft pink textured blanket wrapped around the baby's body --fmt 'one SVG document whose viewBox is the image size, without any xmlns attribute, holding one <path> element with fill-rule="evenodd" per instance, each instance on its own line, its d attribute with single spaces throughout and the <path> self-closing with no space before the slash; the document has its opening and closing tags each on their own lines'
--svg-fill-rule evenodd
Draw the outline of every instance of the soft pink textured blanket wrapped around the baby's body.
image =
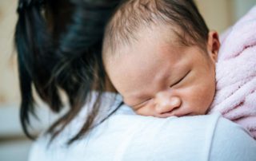
<svg viewBox="0 0 256 161">
<path fill-rule="evenodd" d="M 211 112 L 241 124 L 256 139 L 256 6 L 222 37 Z"/>
</svg>

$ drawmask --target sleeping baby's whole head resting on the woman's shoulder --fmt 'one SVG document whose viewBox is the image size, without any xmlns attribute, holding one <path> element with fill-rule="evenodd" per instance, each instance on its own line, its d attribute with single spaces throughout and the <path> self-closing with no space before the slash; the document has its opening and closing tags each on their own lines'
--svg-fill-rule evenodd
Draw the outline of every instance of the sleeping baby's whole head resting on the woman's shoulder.
<svg viewBox="0 0 256 161">
<path fill-rule="evenodd" d="M 205 114 L 214 99 L 218 33 L 191 0 L 128 0 L 106 26 L 103 62 L 143 116 Z"/>
</svg>

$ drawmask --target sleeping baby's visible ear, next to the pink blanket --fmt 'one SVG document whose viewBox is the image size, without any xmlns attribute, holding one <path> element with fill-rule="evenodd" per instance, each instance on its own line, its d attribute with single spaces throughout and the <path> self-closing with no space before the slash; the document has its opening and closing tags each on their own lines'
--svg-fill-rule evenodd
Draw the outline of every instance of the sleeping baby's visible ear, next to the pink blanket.
<svg viewBox="0 0 256 161">
<path fill-rule="evenodd" d="M 218 40 L 218 33 L 216 31 L 210 31 L 208 33 L 207 50 L 208 50 L 208 53 L 210 54 L 209 56 L 214 61 L 217 61 L 219 48 L 220 48 L 220 42 Z"/>
</svg>

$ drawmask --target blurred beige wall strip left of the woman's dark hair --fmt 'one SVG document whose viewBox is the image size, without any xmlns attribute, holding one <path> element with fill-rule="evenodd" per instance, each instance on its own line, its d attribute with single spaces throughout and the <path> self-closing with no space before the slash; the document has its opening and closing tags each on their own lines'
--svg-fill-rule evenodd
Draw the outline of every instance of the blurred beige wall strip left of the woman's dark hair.
<svg viewBox="0 0 256 161">
<path fill-rule="evenodd" d="M 13 48 L 16 0 L 0 1 L 0 104 L 18 104 L 16 56 Z"/>
</svg>

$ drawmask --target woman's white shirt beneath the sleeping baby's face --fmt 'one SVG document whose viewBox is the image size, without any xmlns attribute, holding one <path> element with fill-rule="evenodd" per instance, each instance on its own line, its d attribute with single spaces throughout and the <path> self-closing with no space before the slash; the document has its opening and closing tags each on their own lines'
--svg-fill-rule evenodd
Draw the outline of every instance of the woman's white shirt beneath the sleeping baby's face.
<svg viewBox="0 0 256 161">
<path fill-rule="evenodd" d="M 41 135 L 30 161 L 256 161 L 256 141 L 218 113 L 208 116 L 137 116 L 123 105 L 88 135 L 66 146 L 83 124 L 79 116 L 47 147 Z"/>
</svg>

